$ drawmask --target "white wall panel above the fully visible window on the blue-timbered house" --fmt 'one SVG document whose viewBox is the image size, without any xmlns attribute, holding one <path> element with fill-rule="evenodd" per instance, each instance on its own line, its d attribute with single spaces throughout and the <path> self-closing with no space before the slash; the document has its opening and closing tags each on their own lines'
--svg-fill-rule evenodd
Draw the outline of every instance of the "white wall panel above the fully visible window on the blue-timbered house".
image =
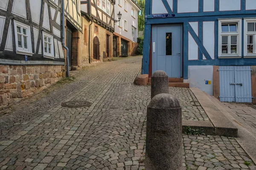
<svg viewBox="0 0 256 170">
<path fill-rule="evenodd" d="M 235 11 L 235 10 L 241 9 L 241 0 L 219 0 L 219 1 L 220 1 L 220 11 Z"/>
</svg>

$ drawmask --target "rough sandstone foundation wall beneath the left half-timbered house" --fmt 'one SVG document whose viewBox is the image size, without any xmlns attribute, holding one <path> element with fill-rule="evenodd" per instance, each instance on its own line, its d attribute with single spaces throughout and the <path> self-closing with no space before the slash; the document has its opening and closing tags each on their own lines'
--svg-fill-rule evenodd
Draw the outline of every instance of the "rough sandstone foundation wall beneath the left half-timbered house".
<svg viewBox="0 0 256 170">
<path fill-rule="evenodd" d="M 0 65 L 0 107 L 65 77 L 64 65 Z"/>
</svg>

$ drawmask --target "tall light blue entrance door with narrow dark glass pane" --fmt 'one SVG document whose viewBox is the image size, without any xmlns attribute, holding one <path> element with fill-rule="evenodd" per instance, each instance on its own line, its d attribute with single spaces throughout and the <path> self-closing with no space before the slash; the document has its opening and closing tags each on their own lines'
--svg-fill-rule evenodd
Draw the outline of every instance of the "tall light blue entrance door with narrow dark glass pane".
<svg viewBox="0 0 256 170">
<path fill-rule="evenodd" d="M 152 26 L 152 73 L 163 70 L 169 77 L 182 77 L 182 26 Z"/>
</svg>

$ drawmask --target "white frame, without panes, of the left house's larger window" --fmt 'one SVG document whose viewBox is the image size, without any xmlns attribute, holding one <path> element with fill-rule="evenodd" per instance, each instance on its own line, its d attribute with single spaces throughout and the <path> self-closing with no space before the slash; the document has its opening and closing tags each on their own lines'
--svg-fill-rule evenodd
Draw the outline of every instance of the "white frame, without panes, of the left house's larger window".
<svg viewBox="0 0 256 170">
<path fill-rule="evenodd" d="M 14 32 L 15 32 L 16 53 L 17 54 L 22 54 L 22 55 L 32 56 L 33 53 L 32 53 L 32 42 L 31 42 L 30 26 L 28 26 L 24 23 L 21 23 L 17 20 L 13 20 L 13 23 L 14 23 Z M 27 49 L 26 48 L 20 48 L 19 45 L 18 45 L 17 26 L 27 29 L 27 35 L 26 35 L 26 37 L 27 37 Z"/>
</svg>

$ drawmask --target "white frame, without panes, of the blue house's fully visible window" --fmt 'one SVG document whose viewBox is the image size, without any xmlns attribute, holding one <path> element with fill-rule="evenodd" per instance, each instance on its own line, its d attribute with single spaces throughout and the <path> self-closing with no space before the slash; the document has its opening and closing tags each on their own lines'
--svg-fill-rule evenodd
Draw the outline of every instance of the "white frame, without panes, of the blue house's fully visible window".
<svg viewBox="0 0 256 170">
<path fill-rule="evenodd" d="M 237 23 L 237 32 L 221 33 L 222 23 Z M 237 54 L 221 54 L 222 35 L 237 35 Z M 218 57 L 219 58 L 241 58 L 242 56 L 242 19 L 219 19 L 218 20 Z"/>
</svg>

